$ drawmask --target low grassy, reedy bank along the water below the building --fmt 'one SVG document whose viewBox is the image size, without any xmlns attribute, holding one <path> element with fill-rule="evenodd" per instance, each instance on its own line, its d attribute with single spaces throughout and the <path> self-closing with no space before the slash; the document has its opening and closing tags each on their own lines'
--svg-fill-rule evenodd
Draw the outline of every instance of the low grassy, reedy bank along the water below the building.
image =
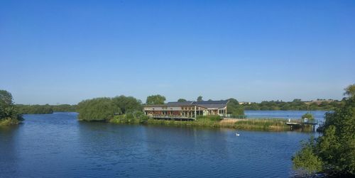
<svg viewBox="0 0 355 178">
<path fill-rule="evenodd" d="M 236 128 L 241 130 L 289 130 L 290 128 L 285 124 L 286 119 L 282 118 L 253 118 L 253 119 L 224 119 L 202 117 L 197 118 L 196 121 L 168 121 L 156 120 L 148 118 L 147 116 L 114 116 L 110 123 L 117 124 L 149 124 L 161 126 L 200 126 L 213 128 Z M 310 130 L 310 129 L 305 129 Z"/>
</svg>

